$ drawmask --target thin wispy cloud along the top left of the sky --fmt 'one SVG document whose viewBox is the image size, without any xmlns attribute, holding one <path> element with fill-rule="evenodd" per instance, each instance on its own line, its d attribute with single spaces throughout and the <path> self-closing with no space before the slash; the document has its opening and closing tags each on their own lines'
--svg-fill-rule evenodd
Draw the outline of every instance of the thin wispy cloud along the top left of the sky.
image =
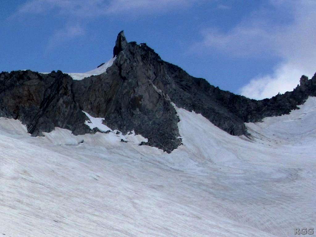
<svg viewBox="0 0 316 237">
<path fill-rule="evenodd" d="M 84 26 L 78 22 L 87 23 L 98 17 L 123 14 L 125 17 L 161 14 L 188 7 L 194 2 L 198 0 L 28 0 L 10 18 L 23 19 L 29 15 L 47 14 L 52 18 L 64 19 L 66 25 L 56 31 L 48 42 L 47 50 L 50 50 L 60 43 L 82 36 Z"/>
</svg>

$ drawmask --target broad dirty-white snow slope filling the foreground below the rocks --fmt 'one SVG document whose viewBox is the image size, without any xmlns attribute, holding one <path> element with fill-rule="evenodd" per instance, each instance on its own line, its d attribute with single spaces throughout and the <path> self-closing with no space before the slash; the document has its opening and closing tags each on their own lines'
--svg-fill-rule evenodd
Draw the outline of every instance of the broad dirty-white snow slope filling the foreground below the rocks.
<svg viewBox="0 0 316 237">
<path fill-rule="evenodd" d="M 316 98 L 247 124 L 252 139 L 177 111 L 184 145 L 171 154 L 112 132 L 30 137 L 1 118 L 0 234 L 285 237 L 315 228 Z"/>
</svg>

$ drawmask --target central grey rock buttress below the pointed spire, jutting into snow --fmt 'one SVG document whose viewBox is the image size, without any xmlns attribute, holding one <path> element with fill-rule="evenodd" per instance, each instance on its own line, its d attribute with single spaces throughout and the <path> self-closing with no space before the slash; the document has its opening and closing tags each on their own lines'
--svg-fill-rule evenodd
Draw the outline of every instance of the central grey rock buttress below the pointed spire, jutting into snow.
<svg viewBox="0 0 316 237">
<path fill-rule="evenodd" d="M 179 118 L 169 97 L 153 84 L 137 48 L 135 42 L 127 44 L 106 74 L 74 81 L 75 100 L 83 111 L 105 118 L 112 130 L 134 130 L 149 145 L 171 152 L 180 144 Z"/>
</svg>

